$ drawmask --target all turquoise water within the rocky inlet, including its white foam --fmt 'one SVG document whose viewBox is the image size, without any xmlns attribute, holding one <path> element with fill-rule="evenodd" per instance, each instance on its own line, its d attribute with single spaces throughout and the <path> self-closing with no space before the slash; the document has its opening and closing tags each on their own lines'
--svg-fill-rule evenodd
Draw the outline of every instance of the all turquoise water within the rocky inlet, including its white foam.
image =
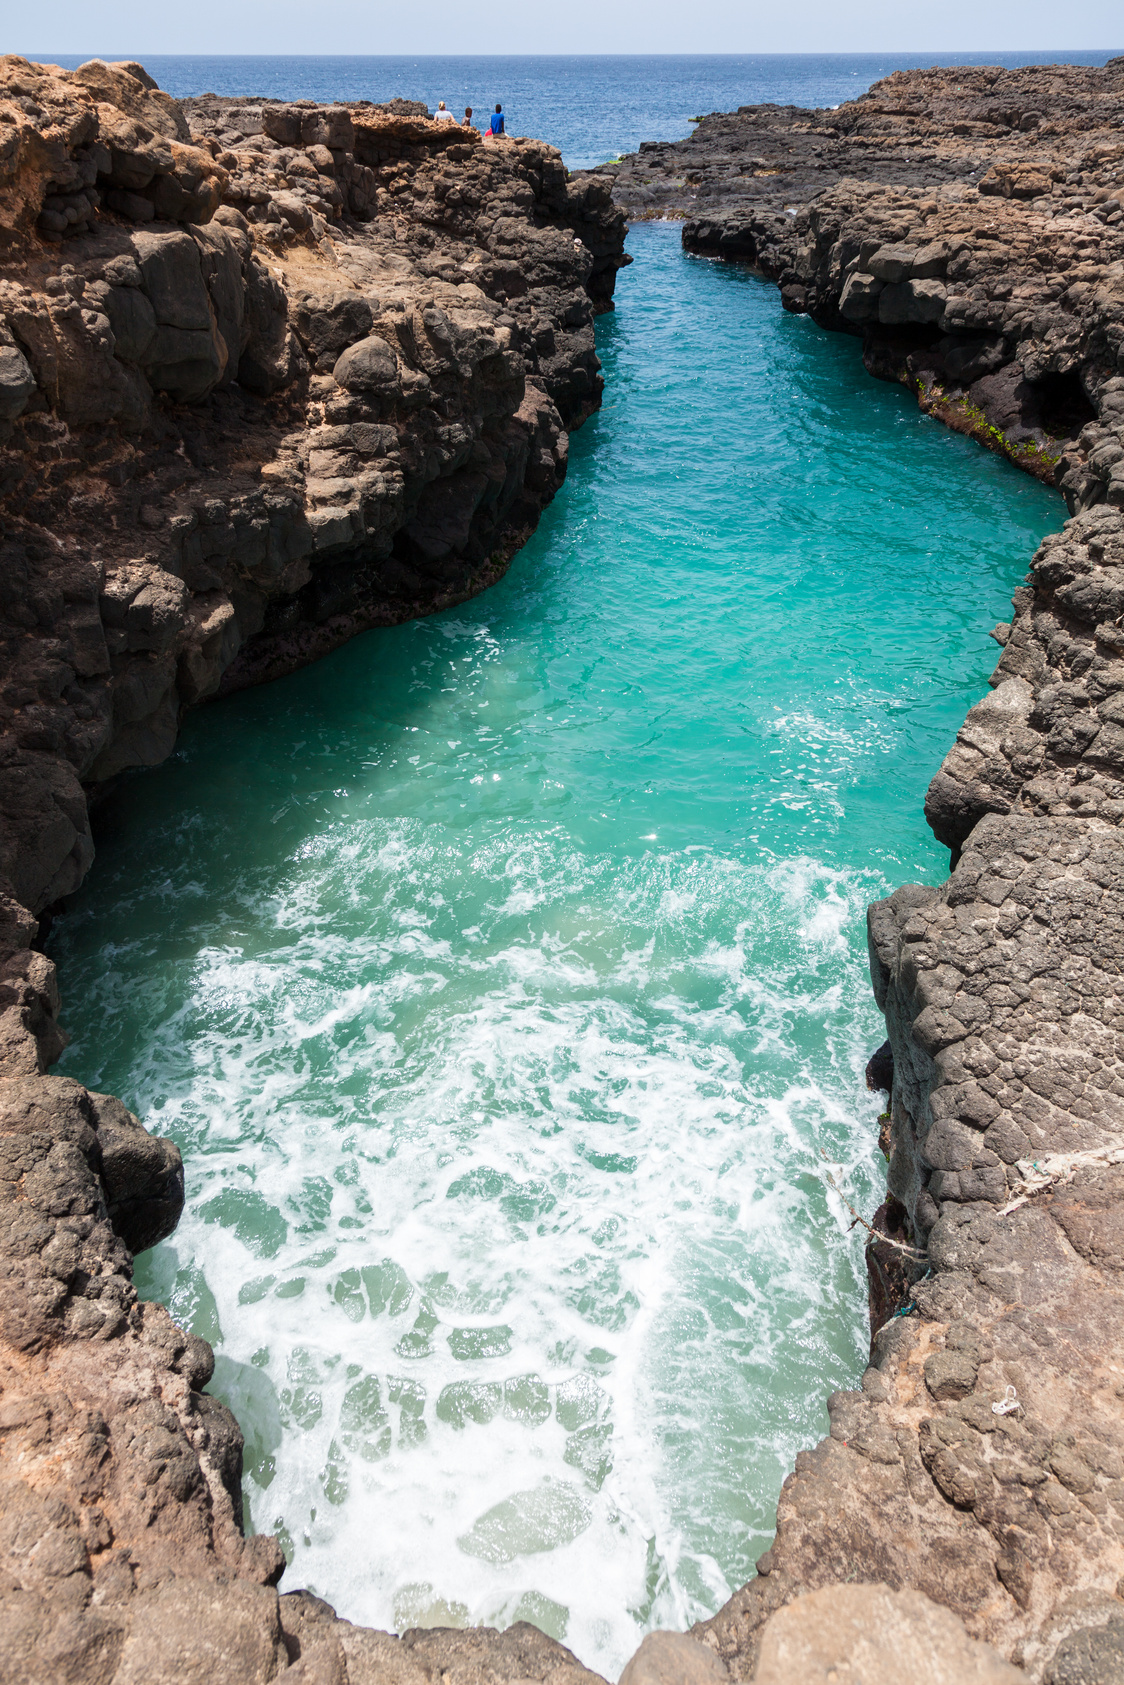
<svg viewBox="0 0 1124 1685">
<path fill-rule="evenodd" d="M 56 927 L 62 1062 L 174 1136 L 143 1291 L 253 1525 L 383 1626 L 613 1673 L 768 1542 L 864 1367 L 866 903 L 1060 499 L 634 231 L 507 578 L 204 709 Z"/>
</svg>

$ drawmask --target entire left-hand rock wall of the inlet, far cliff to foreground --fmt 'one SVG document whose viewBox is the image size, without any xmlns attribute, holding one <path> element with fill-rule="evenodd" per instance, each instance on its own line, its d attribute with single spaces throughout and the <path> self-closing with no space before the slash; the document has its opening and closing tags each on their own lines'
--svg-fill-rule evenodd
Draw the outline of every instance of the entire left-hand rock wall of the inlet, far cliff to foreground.
<svg viewBox="0 0 1124 1685">
<path fill-rule="evenodd" d="M 140 1304 L 177 1149 L 45 1075 L 37 920 L 184 709 L 499 578 L 600 403 L 624 216 L 531 140 L 0 59 L 0 1680 L 590 1675 L 278 1599 L 212 1355 Z"/>
</svg>

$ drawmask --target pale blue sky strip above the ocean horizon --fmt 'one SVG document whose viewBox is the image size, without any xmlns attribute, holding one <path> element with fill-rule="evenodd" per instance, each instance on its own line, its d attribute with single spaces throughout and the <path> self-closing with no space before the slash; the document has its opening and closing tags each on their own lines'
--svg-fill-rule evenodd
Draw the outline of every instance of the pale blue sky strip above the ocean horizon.
<svg viewBox="0 0 1124 1685">
<path fill-rule="evenodd" d="M 1124 51 L 1121 0 L 54 0 L 13 8 L 5 51 L 160 52 L 977 52 Z"/>
</svg>

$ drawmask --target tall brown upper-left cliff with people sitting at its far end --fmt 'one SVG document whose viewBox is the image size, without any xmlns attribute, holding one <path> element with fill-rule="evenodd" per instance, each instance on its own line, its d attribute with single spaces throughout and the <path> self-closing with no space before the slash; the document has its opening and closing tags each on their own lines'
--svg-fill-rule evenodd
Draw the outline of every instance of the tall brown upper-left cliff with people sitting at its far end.
<svg viewBox="0 0 1124 1685">
<path fill-rule="evenodd" d="M 0 61 L 0 873 L 39 913 L 184 708 L 499 576 L 600 403 L 624 219 L 538 142 L 185 115 L 138 66 Z"/>
</svg>

